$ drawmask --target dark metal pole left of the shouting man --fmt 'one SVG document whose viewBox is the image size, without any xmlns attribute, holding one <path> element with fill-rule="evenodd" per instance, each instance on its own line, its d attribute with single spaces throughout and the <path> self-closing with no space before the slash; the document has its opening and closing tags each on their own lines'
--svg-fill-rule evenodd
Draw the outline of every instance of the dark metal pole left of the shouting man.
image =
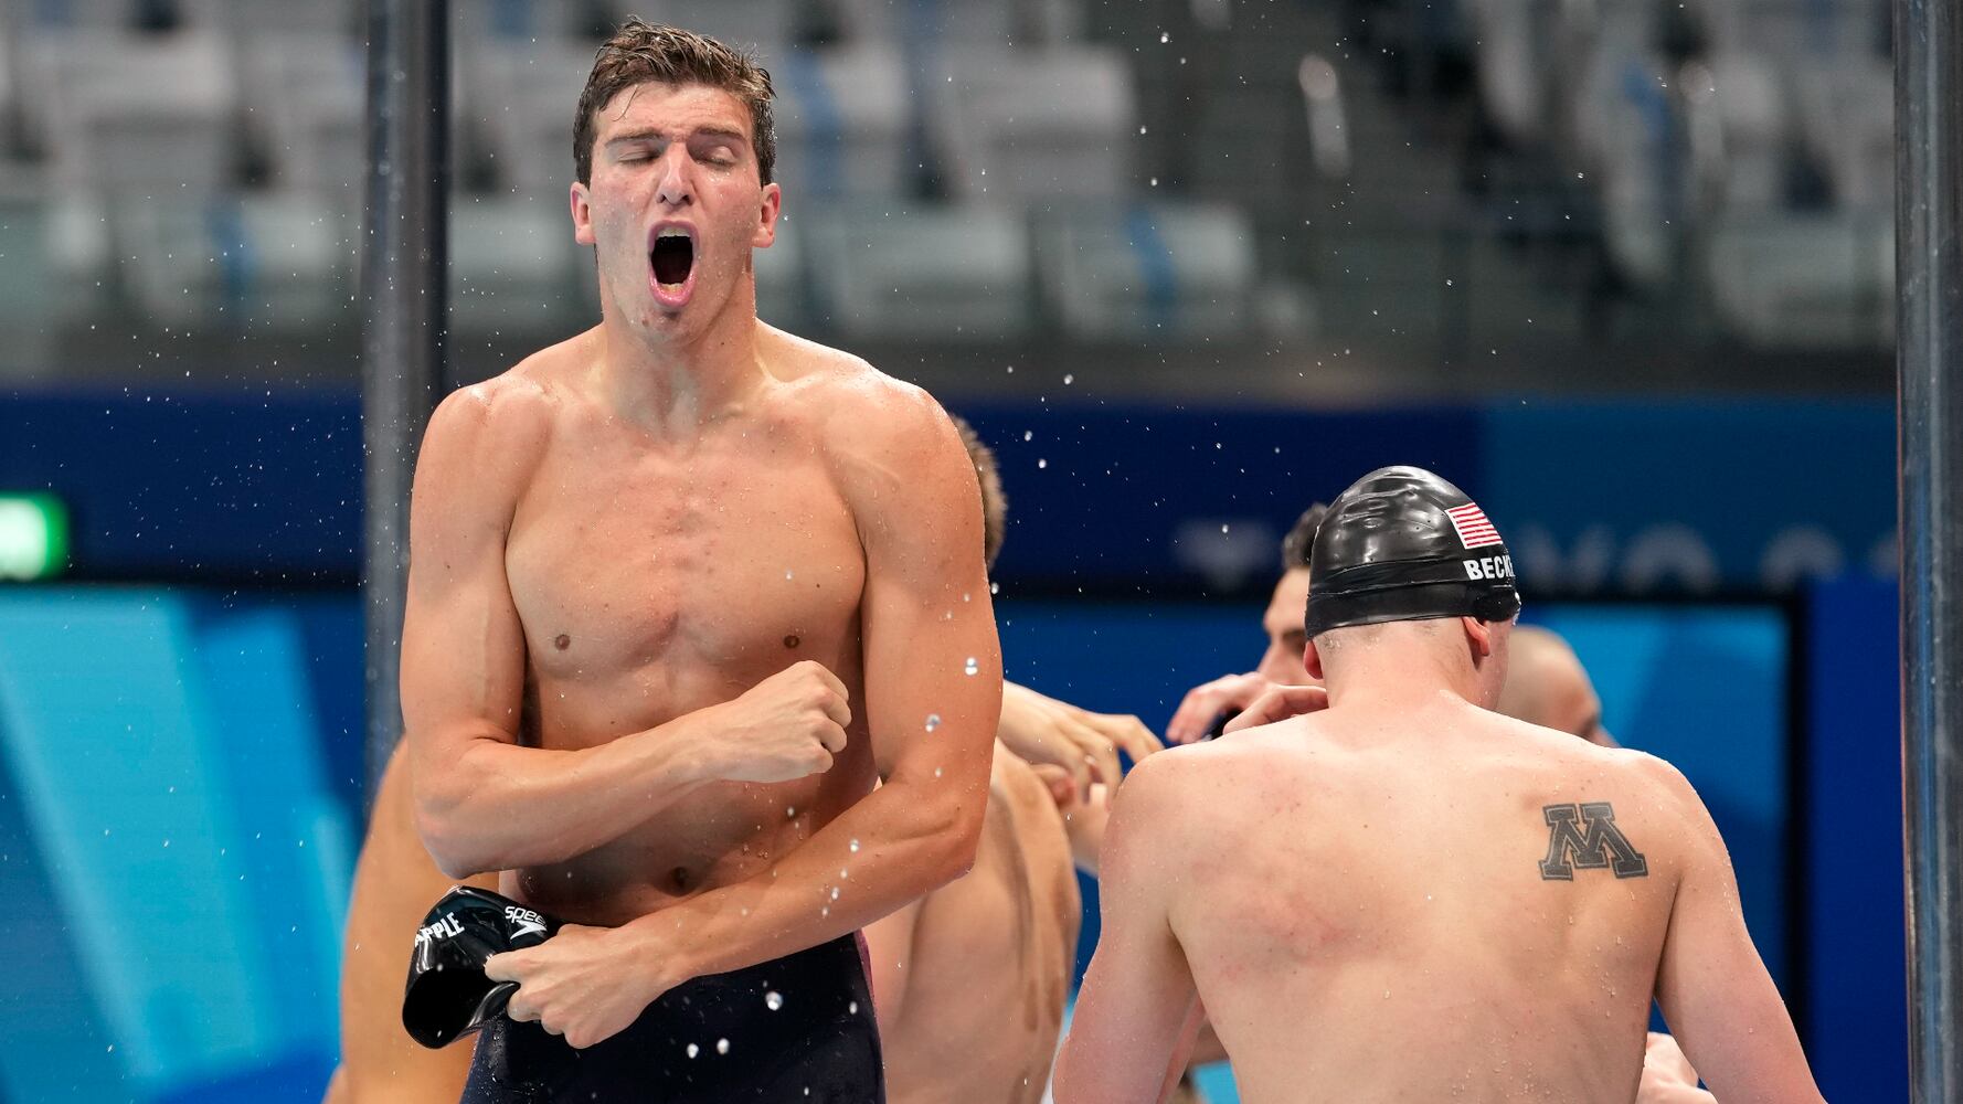
<svg viewBox="0 0 1963 1104">
<path fill-rule="evenodd" d="M 361 236 L 367 462 L 367 801 L 402 731 L 408 483 L 440 399 L 450 259 L 450 4 L 369 0 L 369 179 Z"/>
</svg>

